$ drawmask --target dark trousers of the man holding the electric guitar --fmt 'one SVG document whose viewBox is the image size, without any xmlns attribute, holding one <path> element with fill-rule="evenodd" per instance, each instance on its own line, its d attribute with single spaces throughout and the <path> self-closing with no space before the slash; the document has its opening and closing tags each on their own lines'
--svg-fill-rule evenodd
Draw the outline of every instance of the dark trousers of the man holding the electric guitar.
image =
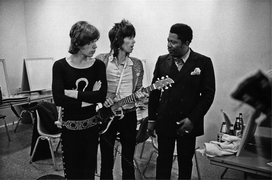
<svg viewBox="0 0 272 180">
<path fill-rule="evenodd" d="M 131 111 L 126 113 L 122 119 L 114 119 L 109 129 L 100 135 L 100 179 L 113 179 L 113 145 L 117 132 L 120 133 L 119 136 L 122 147 L 122 179 L 135 179 L 133 157 L 136 145 L 136 128 L 136 111 Z M 119 156 L 118 153 L 117 156 Z"/>
</svg>

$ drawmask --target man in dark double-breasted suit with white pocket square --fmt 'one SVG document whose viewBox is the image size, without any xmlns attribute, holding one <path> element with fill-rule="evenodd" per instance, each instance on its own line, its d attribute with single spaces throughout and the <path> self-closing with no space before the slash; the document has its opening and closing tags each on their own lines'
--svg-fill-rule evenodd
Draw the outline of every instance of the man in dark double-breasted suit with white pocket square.
<svg viewBox="0 0 272 180">
<path fill-rule="evenodd" d="M 177 140 L 179 179 L 190 179 L 195 139 L 204 134 L 204 115 L 215 94 L 211 59 L 189 48 L 192 29 L 174 24 L 168 36 L 168 52 L 159 56 L 152 83 L 165 77 L 175 81 L 164 92 L 155 90 L 149 97 L 151 136 L 158 135 L 159 156 L 156 179 L 170 179 L 172 158 Z"/>
</svg>

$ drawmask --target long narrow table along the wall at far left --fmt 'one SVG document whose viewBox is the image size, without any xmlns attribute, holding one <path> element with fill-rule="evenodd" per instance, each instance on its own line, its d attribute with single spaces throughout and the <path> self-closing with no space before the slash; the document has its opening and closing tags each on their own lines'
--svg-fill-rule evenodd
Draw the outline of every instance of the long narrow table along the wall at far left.
<svg viewBox="0 0 272 180">
<path fill-rule="evenodd" d="M 18 127 L 20 120 L 22 118 L 22 114 L 29 112 L 28 110 L 23 110 L 19 115 L 18 112 L 16 111 L 16 109 L 14 108 L 14 106 L 20 106 L 20 105 L 24 105 L 24 104 L 35 103 L 35 102 L 46 101 L 46 100 L 51 100 L 51 101 L 53 100 L 52 94 L 49 94 L 49 95 L 28 94 L 28 97 L 29 97 L 29 100 L 26 100 L 26 101 L 3 103 L 2 105 L 0 105 L 0 109 L 11 108 L 11 110 L 14 112 L 14 114 L 19 118 L 18 122 L 16 124 L 16 127 L 14 129 L 14 132 L 16 132 L 16 130 L 17 130 L 17 127 Z M 32 118 L 32 121 L 33 121 L 33 118 Z"/>
</svg>

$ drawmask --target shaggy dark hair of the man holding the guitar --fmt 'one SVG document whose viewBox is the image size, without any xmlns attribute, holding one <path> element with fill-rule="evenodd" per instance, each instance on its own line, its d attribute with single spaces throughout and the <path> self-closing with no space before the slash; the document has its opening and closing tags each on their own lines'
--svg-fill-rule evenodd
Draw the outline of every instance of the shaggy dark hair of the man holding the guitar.
<svg viewBox="0 0 272 180">
<path fill-rule="evenodd" d="M 113 56 L 116 57 L 118 55 L 118 48 L 122 46 L 123 39 L 135 36 L 135 28 L 128 20 L 123 19 L 119 23 L 114 23 L 114 26 L 109 31 L 109 39 L 111 42 L 111 51 L 113 50 Z"/>
</svg>

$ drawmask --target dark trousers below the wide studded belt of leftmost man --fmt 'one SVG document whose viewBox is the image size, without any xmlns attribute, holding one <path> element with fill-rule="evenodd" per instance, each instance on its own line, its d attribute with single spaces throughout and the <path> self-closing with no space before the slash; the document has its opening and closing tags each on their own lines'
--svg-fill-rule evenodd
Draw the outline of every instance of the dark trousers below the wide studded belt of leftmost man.
<svg viewBox="0 0 272 180">
<path fill-rule="evenodd" d="M 97 164 L 98 127 L 61 129 L 61 148 L 66 179 L 94 179 Z"/>
</svg>

